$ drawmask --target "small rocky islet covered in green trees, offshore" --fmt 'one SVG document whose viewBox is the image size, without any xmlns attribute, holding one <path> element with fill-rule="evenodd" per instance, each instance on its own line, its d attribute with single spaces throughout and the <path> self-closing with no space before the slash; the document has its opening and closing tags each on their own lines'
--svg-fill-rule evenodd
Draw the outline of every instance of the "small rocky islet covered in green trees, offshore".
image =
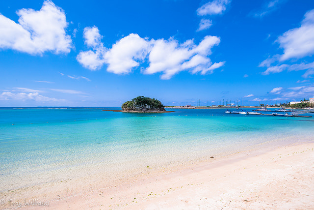
<svg viewBox="0 0 314 210">
<path fill-rule="evenodd" d="M 160 101 L 155 98 L 148 98 L 144 96 L 137 96 L 131 101 L 127 101 L 122 104 L 122 110 L 124 111 L 165 111 L 164 106 Z"/>
</svg>

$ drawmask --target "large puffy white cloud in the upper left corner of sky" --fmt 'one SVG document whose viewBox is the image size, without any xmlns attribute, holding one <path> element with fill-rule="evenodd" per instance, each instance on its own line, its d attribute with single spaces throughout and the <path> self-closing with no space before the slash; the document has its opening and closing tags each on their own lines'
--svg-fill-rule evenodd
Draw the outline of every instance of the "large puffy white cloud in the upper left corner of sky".
<svg viewBox="0 0 314 210">
<path fill-rule="evenodd" d="M 66 35 L 68 23 L 65 13 L 45 0 L 39 11 L 20 9 L 18 22 L 0 14 L 0 48 L 13 49 L 32 55 L 42 55 L 46 51 L 55 54 L 69 53 L 72 39 Z"/>
</svg>

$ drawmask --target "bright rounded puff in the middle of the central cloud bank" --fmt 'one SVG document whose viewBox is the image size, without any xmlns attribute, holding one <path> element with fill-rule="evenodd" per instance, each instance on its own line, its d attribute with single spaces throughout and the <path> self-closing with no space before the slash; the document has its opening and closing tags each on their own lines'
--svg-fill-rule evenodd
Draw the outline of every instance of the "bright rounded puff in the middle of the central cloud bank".
<svg viewBox="0 0 314 210">
<path fill-rule="evenodd" d="M 146 58 L 150 43 L 138 34 L 131 33 L 117 41 L 105 53 L 105 62 L 108 63 L 107 71 L 115 74 L 130 73 L 133 67 Z"/>
</svg>

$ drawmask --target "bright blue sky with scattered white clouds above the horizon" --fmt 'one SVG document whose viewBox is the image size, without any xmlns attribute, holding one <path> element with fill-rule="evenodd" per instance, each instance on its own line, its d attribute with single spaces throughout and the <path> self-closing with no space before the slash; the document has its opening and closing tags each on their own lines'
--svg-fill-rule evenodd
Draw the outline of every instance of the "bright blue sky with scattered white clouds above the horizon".
<svg viewBox="0 0 314 210">
<path fill-rule="evenodd" d="M 0 1 L 0 107 L 314 97 L 313 0 Z"/>
</svg>

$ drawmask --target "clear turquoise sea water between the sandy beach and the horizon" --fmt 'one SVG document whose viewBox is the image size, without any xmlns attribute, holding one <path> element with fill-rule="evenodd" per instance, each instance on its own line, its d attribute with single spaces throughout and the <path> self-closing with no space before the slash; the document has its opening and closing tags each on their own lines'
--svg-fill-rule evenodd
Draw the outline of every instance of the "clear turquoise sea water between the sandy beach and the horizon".
<svg viewBox="0 0 314 210">
<path fill-rule="evenodd" d="M 314 140 L 313 118 L 230 115 L 224 109 L 103 109 L 120 110 L 1 108 L 0 191 Z"/>
</svg>

